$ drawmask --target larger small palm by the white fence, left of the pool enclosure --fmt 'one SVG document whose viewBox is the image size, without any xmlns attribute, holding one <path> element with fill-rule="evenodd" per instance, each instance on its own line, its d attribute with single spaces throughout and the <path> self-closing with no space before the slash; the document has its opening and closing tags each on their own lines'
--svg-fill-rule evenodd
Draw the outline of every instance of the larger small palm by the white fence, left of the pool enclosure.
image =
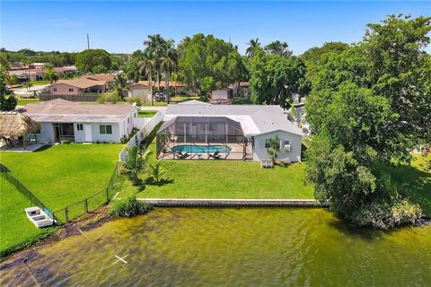
<svg viewBox="0 0 431 287">
<path fill-rule="evenodd" d="M 139 152 L 137 146 L 132 146 L 128 148 L 125 147 L 126 152 L 128 152 L 128 157 L 126 161 L 119 161 L 121 167 L 125 170 L 124 173 L 132 180 L 133 185 L 137 186 L 140 184 L 141 179 L 139 174 L 145 170 L 146 159 L 150 150 L 146 150 L 144 153 Z"/>
</svg>

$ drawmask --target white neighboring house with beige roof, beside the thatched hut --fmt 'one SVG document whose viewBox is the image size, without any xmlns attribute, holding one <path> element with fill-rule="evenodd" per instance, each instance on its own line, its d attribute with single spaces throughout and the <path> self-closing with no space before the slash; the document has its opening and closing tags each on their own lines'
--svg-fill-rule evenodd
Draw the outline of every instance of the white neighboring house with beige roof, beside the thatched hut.
<svg viewBox="0 0 431 287">
<path fill-rule="evenodd" d="M 79 104 L 56 99 L 26 105 L 24 110 L 24 115 L 40 124 L 40 141 L 48 143 L 121 143 L 137 125 L 137 108 L 130 104 Z"/>
</svg>

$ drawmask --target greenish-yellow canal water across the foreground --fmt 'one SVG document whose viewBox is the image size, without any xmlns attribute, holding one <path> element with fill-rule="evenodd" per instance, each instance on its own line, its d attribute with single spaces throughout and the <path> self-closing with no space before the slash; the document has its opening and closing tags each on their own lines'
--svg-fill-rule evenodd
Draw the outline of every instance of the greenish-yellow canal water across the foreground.
<svg viewBox="0 0 431 287">
<path fill-rule="evenodd" d="M 1 265 L 0 285 L 431 283 L 431 225 L 356 230 L 324 209 L 160 208 L 84 234 L 10 258 Z M 28 269 L 23 257 L 29 257 Z"/>
</svg>

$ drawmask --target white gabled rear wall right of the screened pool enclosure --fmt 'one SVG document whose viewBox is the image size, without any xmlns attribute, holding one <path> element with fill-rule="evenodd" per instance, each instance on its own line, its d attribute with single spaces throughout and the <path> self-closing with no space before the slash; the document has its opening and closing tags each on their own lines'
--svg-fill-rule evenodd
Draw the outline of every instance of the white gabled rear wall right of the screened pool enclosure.
<svg viewBox="0 0 431 287">
<path fill-rule="evenodd" d="M 280 141 L 284 143 L 285 140 L 290 141 L 290 152 L 284 151 L 284 146 L 280 146 L 280 152 L 277 152 L 277 160 L 283 161 L 290 159 L 290 161 L 301 161 L 301 144 L 302 136 L 287 133 L 285 131 L 275 131 L 264 135 L 257 135 L 254 137 L 254 151 L 253 159 L 260 161 L 262 159 L 270 158 L 267 148 L 265 148 L 265 140 L 278 135 Z"/>
</svg>

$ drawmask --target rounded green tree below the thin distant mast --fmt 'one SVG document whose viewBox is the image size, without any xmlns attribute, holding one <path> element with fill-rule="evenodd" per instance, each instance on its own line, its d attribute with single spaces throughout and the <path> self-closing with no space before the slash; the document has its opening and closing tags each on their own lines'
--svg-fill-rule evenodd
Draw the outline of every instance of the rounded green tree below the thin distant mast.
<svg viewBox="0 0 431 287">
<path fill-rule="evenodd" d="M 90 48 L 76 54 L 75 65 L 84 73 L 105 73 L 110 71 L 112 60 L 107 51 Z"/>
</svg>

